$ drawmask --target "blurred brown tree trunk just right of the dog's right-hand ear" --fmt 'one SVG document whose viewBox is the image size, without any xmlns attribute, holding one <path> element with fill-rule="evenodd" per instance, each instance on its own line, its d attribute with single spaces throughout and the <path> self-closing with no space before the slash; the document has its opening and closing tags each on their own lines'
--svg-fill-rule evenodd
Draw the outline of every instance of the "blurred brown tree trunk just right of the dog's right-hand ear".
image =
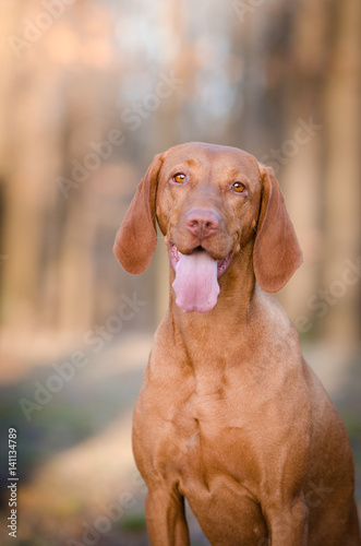
<svg viewBox="0 0 361 546">
<path fill-rule="evenodd" d="M 280 182 L 304 263 L 280 296 L 301 332 L 313 328 L 308 301 L 322 282 L 324 258 L 324 92 L 330 66 L 335 0 L 299 0 L 292 10 L 284 81 L 285 134 Z M 308 320 L 302 321 L 302 317 Z M 303 323 L 305 322 L 305 325 Z"/>
</svg>

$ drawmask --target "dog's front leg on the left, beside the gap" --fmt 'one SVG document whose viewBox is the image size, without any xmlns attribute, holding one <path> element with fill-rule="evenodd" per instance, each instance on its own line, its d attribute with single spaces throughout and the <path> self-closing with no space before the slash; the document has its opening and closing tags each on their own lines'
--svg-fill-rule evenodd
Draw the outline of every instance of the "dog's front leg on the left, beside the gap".
<svg viewBox="0 0 361 546">
<path fill-rule="evenodd" d="M 149 490 L 145 499 L 145 515 L 152 546 L 189 546 L 184 497 L 177 490 Z"/>
</svg>

